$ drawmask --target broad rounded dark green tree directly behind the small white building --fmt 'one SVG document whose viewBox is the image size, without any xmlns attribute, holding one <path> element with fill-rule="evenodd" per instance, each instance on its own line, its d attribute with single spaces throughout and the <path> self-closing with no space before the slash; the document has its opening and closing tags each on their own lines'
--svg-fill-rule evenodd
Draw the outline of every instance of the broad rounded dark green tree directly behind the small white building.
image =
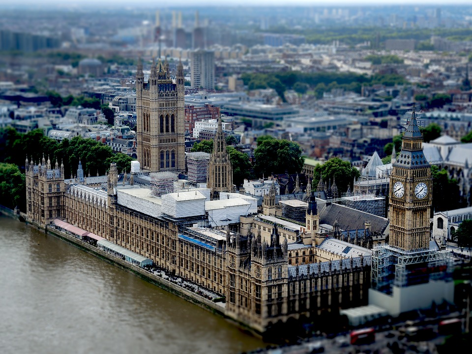
<svg viewBox="0 0 472 354">
<path fill-rule="evenodd" d="M 301 156 L 302 151 L 297 143 L 269 136 L 261 136 L 257 142 L 257 148 L 254 150 L 254 169 L 258 176 L 284 172 L 299 173 L 303 168 L 305 159 Z"/>
</svg>

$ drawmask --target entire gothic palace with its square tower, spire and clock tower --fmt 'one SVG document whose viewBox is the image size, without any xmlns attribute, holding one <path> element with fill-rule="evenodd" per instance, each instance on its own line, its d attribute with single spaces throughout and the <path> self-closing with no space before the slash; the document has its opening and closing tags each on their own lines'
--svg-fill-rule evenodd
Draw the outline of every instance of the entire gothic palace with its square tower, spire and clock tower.
<svg viewBox="0 0 472 354">
<path fill-rule="evenodd" d="M 369 297 L 395 315 L 409 310 L 405 289 L 413 294 L 424 286 L 447 288 L 450 262 L 430 244 L 431 172 L 414 114 L 393 164 L 390 245 L 372 249 L 369 220 L 355 231 L 320 225 L 314 191 L 307 191 L 304 224 L 277 217 L 273 183 L 262 213 L 254 198 L 234 193 L 221 118 L 207 185 L 183 187 L 172 177 L 185 172 L 182 65 L 172 79 L 159 60 L 147 82 L 139 65 L 136 85 L 139 173 L 132 168 L 119 174 L 111 164 L 106 176 L 84 177 L 79 166 L 76 178 L 65 179 L 57 161 L 27 158 L 28 222 L 45 227 L 59 219 L 142 255 L 224 296 L 225 315 L 259 332 L 364 306 Z M 148 185 L 140 182 L 146 178 Z M 287 225 L 299 228 L 296 235 Z M 355 241 L 343 237 L 346 232 Z M 436 270 L 418 278 L 414 269 L 420 266 Z M 421 305 L 450 299 L 437 293 L 423 295 Z"/>
</svg>

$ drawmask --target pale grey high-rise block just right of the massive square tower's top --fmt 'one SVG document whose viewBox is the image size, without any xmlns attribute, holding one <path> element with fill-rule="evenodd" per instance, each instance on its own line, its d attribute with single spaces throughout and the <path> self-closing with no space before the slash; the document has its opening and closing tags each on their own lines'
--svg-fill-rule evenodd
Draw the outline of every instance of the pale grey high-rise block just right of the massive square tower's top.
<svg viewBox="0 0 472 354">
<path fill-rule="evenodd" d="M 197 50 L 190 55 L 190 77 L 192 88 L 215 88 L 215 53 Z"/>
</svg>

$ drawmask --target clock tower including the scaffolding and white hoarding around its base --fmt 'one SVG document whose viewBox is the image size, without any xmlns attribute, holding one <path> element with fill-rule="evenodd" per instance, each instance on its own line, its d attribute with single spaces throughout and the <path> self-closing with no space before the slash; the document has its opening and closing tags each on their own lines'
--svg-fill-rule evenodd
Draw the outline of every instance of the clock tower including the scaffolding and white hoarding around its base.
<svg viewBox="0 0 472 354">
<path fill-rule="evenodd" d="M 429 241 L 431 166 L 423 153 L 414 107 L 402 150 L 392 157 L 392 164 L 390 242 L 373 249 L 369 304 L 398 316 L 454 301 L 451 254 Z"/>
</svg>

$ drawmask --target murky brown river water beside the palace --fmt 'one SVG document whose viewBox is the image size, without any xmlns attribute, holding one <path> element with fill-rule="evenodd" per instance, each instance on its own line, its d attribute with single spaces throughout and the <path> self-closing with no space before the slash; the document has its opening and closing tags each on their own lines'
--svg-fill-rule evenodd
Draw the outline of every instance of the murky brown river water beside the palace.
<svg viewBox="0 0 472 354">
<path fill-rule="evenodd" d="M 0 214 L 0 353 L 240 353 L 261 339 Z"/>
</svg>

